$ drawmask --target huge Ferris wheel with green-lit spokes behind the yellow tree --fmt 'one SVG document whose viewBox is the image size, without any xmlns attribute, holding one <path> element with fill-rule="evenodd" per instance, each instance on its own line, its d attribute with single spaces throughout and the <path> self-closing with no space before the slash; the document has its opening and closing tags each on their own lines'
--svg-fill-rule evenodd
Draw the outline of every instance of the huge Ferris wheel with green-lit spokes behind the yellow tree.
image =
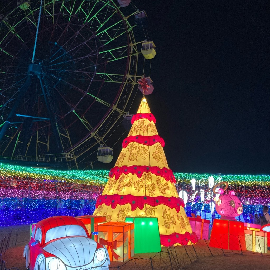
<svg viewBox="0 0 270 270">
<path fill-rule="evenodd" d="M 138 11 L 112 0 L 17 4 L 0 18 L 0 156 L 78 168 L 138 90 Z"/>
</svg>

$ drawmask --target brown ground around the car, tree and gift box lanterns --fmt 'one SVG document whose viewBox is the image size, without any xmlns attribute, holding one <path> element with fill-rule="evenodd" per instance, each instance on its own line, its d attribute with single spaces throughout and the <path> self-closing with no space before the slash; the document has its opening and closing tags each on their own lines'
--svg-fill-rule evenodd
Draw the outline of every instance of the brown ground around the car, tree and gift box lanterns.
<svg viewBox="0 0 270 270">
<path fill-rule="evenodd" d="M 18 229 L 18 238 L 15 245 L 16 229 Z M 23 258 L 23 249 L 30 240 L 30 225 L 20 225 L 12 227 L 2 227 L 0 230 L 0 240 L 11 232 L 10 247 L 2 252 L 6 263 L 6 269 L 18 268 L 25 270 L 25 259 Z M 210 252 L 211 251 L 211 252 Z M 211 254 L 212 253 L 212 254 Z M 151 260 L 150 260 L 151 257 Z M 137 258 L 137 259 L 135 259 Z M 171 261 L 170 261 L 171 259 Z M 151 265 L 152 262 L 152 265 Z M 112 262 L 110 268 L 119 269 L 200 269 L 200 270 L 247 270 L 269 268 L 270 251 L 266 254 L 248 253 L 237 251 L 231 253 L 221 249 L 209 249 L 207 242 L 200 241 L 197 245 L 189 247 L 172 247 L 170 257 L 168 249 L 162 248 L 158 254 L 135 254 L 135 257 L 128 262 Z"/>
</svg>

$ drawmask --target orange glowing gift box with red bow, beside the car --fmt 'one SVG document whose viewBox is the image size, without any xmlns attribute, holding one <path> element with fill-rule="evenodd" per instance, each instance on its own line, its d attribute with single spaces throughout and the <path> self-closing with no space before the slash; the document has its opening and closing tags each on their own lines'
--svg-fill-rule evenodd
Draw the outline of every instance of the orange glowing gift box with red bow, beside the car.
<svg viewBox="0 0 270 270">
<path fill-rule="evenodd" d="M 106 222 L 97 230 L 98 242 L 107 248 L 111 261 L 124 262 L 134 256 L 134 223 Z"/>
</svg>

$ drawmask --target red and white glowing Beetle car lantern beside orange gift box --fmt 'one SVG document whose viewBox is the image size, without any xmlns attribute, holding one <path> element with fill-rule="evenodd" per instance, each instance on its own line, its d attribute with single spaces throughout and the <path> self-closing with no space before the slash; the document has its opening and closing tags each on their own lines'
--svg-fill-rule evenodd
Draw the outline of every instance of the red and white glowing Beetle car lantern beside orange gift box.
<svg viewBox="0 0 270 270">
<path fill-rule="evenodd" d="M 108 270 L 107 249 L 90 239 L 82 221 L 49 217 L 35 224 L 23 257 L 30 270 Z"/>
</svg>

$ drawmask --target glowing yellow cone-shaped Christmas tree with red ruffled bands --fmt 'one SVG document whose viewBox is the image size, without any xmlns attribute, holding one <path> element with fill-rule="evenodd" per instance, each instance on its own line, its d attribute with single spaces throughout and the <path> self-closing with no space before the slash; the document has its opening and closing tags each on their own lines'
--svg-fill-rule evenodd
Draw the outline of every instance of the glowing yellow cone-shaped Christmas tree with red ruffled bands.
<svg viewBox="0 0 270 270">
<path fill-rule="evenodd" d="M 157 217 L 161 245 L 197 242 L 168 167 L 164 140 L 157 133 L 156 119 L 144 96 L 131 123 L 115 167 L 97 198 L 94 215 L 106 215 L 107 222 L 124 222 L 126 217 Z"/>
</svg>

